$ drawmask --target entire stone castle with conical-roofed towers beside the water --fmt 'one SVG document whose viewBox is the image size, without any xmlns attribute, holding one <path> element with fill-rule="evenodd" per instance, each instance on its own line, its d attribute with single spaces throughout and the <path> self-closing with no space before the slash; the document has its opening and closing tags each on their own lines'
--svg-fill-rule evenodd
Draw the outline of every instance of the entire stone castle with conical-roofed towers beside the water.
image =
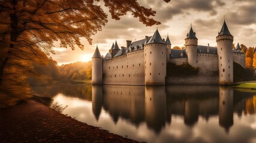
<svg viewBox="0 0 256 143">
<path fill-rule="evenodd" d="M 113 43 L 112 48 L 103 58 L 100 51 L 95 49 L 92 57 L 92 85 L 165 85 L 167 79 L 167 63 L 176 65 L 188 63 L 192 67 L 199 69 L 195 80 L 204 79 L 204 75 L 218 72 L 214 77 L 213 84 L 227 85 L 233 83 L 233 61 L 245 67 L 245 54 L 241 52 L 239 43 L 233 49 L 233 36 L 224 23 L 218 36 L 216 36 L 217 48 L 198 45 L 198 39 L 192 29 L 185 38 L 185 49 L 171 49 L 171 42 L 162 39 L 156 29 L 153 36 L 145 36 L 139 41 L 127 41 L 126 47 Z M 208 80 L 207 78 L 205 80 Z M 204 84 L 207 81 L 199 82 Z"/>
</svg>

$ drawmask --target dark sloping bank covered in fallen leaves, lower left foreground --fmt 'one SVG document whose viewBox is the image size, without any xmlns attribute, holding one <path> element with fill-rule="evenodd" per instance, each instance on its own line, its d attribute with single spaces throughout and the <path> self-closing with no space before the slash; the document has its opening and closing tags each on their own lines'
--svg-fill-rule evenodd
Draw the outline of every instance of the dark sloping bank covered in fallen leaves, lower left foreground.
<svg viewBox="0 0 256 143">
<path fill-rule="evenodd" d="M 0 142 L 136 142 L 28 100 L 0 109 Z"/>
</svg>

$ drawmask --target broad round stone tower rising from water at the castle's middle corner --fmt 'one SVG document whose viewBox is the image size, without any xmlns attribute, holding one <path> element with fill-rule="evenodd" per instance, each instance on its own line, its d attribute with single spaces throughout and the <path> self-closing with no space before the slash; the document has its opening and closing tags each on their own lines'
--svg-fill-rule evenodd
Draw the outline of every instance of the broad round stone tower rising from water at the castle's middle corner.
<svg viewBox="0 0 256 143">
<path fill-rule="evenodd" d="M 165 85 L 166 44 L 156 29 L 144 46 L 145 85 Z"/>
</svg>

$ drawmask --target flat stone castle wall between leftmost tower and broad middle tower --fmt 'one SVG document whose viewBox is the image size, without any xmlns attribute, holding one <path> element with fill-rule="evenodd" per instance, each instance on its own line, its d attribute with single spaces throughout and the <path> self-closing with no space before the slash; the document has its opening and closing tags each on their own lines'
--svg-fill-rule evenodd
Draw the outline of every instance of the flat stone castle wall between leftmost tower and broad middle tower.
<svg viewBox="0 0 256 143">
<path fill-rule="evenodd" d="M 104 85 L 144 85 L 144 49 L 103 61 Z"/>
</svg>

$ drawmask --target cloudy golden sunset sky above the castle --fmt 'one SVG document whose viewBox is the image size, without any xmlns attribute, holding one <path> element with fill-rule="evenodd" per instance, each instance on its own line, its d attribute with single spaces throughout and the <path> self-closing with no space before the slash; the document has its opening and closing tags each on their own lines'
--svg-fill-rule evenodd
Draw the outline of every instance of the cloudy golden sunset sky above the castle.
<svg viewBox="0 0 256 143">
<path fill-rule="evenodd" d="M 51 55 L 59 65 L 74 63 L 76 61 L 89 61 L 95 51 L 97 42 L 101 55 L 106 55 L 117 41 L 119 47 L 126 46 L 126 41 L 132 42 L 152 36 L 158 29 L 162 38 L 167 35 L 171 41 L 171 47 L 183 46 L 186 33 L 192 24 L 192 29 L 198 38 L 198 45 L 216 46 L 216 36 L 221 30 L 224 17 L 231 35 L 234 36 L 234 44 L 237 42 L 247 47 L 256 46 L 256 1 L 255 0 L 138 0 L 138 3 L 146 8 L 156 11 L 155 20 L 161 25 L 146 27 L 138 18 L 130 13 L 121 17 L 121 20 L 113 20 L 107 10 L 109 22 L 103 30 L 92 36 L 92 45 L 81 39 L 85 49 L 59 48 L 55 43 L 55 55 Z"/>
</svg>

